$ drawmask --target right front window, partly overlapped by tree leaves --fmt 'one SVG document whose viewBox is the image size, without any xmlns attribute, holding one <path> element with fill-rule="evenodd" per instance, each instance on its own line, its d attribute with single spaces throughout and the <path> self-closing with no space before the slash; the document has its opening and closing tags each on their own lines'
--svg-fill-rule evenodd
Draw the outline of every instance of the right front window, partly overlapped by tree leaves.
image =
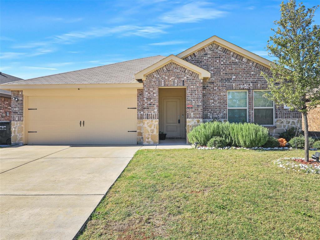
<svg viewBox="0 0 320 240">
<path fill-rule="evenodd" d="M 254 123 L 260 125 L 274 124 L 274 103 L 263 95 L 269 91 L 253 92 Z"/>
</svg>

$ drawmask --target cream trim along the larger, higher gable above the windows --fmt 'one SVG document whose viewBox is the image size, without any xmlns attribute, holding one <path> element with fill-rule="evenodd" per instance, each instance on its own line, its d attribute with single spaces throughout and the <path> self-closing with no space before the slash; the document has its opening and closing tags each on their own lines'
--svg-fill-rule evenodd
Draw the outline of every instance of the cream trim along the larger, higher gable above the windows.
<svg viewBox="0 0 320 240">
<path fill-rule="evenodd" d="M 198 43 L 198 44 L 194 45 L 193 47 L 188 48 L 187 50 L 179 53 L 177 55 L 177 57 L 184 59 L 185 57 L 188 57 L 192 53 L 197 52 L 198 50 L 200 50 L 200 49 L 202 49 L 212 43 L 215 43 L 215 44 L 218 44 L 224 48 L 227 48 L 232 52 L 236 52 L 237 54 L 244 56 L 245 58 L 248 58 L 254 62 L 257 62 L 267 68 L 271 67 L 270 64 L 272 66 L 274 66 L 274 63 L 272 61 L 269 61 L 268 59 L 262 58 L 257 54 L 249 52 L 248 50 L 245 50 L 235 44 L 232 44 L 232 43 L 230 43 L 230 42 L 228 42 L 218 36 L 212 36 L 212 37 L 204 40 L 203 42 Z"/>
</svg>

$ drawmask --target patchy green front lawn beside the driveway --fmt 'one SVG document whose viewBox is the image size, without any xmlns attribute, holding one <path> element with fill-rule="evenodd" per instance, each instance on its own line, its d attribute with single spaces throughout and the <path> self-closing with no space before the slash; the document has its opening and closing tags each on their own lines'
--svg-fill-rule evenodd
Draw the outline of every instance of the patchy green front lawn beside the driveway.
<svg viewBox="0 0 320 240">
<path fill-rule="evenodd" d="M 311 153 L 311 152 L 310 152 Z M 320 176 L 302 150 L 140 150 L 78 239 L 320 239 Z"/>
</svg>

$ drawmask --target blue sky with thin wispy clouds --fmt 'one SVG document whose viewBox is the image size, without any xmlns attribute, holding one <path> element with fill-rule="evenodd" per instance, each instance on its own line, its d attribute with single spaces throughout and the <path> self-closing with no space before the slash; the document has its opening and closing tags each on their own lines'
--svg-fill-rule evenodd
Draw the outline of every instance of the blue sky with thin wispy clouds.
<svg viewBox="0 0 320 240">
<path fill-rule="evenodd" d="M 27 79 L 167 56 L 213 35 L 268 58 L 265 46 L 280 3 L 1 0 L 1 71 Z"/>
</svg>

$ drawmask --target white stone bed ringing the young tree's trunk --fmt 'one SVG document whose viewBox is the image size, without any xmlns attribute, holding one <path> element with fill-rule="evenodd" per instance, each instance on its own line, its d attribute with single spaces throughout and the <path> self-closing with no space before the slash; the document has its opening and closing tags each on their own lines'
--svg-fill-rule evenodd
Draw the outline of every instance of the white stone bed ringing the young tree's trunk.
<svg viewBox="0 0 320 240">
<path fill-rule="evenodd" d="M 278 167 L 284 168 L 285 170 L 292 170 L 294 172 L 305 172 L 306 174 L 320 174 L 320 164 L 303 164 L 295 161 L 295 159 L 304 160 L 304 158 L 301 157 L 285 157 L 277 159 L 275 161 L 275 164 Z"/>
</svg>

